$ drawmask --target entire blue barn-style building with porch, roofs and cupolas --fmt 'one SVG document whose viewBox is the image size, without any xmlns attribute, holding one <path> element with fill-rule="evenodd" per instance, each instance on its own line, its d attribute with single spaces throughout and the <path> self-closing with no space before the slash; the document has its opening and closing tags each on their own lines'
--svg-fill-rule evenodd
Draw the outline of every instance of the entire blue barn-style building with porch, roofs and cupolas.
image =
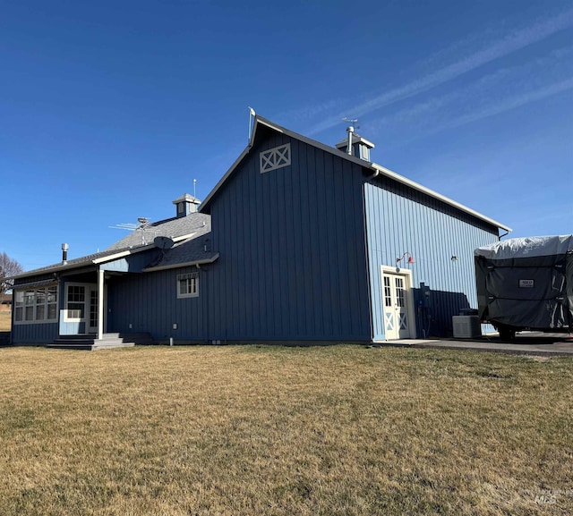
<svg viewBox="0 0 573 516">
<path fill-rule="evenodd" d="M 350 144 L 350 153 L 348 152 Z M 256 116 L 201 204 L 15 278 L 13 343 L 372 343 L 446 336 L 509 227 Z"/>
</svg>

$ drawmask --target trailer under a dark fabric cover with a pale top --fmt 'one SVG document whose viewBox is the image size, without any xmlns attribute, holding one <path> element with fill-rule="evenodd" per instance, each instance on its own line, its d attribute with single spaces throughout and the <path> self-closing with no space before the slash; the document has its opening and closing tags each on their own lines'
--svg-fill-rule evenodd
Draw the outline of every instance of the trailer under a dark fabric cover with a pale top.
<svg viewBox="0 0 573 516">
<path fill-rule="evenodd" d="M 504 340 L 573 331 L 573 235 L 514 238 L 475 250 L 478 315 Z"/>
</svg>

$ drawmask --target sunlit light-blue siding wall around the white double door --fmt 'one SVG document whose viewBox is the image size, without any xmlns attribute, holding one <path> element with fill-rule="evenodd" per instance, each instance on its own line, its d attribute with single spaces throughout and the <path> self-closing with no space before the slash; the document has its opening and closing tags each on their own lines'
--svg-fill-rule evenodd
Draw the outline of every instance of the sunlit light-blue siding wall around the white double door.
<svg viewBox="0 0 573 516">
<path fill-rule="evenodd" d="M 498 228 L 388 178 L 364 184 L 364 207 L 374 340 L 385 338 L 381 266 L 406 251 L 415 264 L 399 265 L 413 273 L 417 336 L 451 334 L 451 317 L 477 308 L 474 250 L 498 241 Z"/>
</svg>

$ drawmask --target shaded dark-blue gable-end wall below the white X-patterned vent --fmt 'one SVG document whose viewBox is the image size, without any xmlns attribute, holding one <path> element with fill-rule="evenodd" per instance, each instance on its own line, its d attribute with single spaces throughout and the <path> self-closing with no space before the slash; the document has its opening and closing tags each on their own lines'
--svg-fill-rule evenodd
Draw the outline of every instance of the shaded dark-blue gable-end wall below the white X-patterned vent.
<svg viewBox="0 0 573 516">
<path fill-rule="evenodd" d="M 261 151 L 287 143 L 291 164 L 261 173 Z M 210 205 L 211 338 L 370 340 L 361 181 L 342 154 L 257 139 Z"/>
</svg>

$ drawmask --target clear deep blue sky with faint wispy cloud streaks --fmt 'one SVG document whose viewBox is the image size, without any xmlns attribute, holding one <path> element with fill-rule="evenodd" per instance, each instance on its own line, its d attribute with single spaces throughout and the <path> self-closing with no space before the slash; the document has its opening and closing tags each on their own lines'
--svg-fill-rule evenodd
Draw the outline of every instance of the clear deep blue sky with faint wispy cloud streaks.
<svg viewBox="0 0 573 516">
<path fill-rule="evenodd" d="M 514 229 L 573 233 L 569 1 L 0 2 L 0 252 L 26 270 L 204 199 L 248 109 Z"/>
</svg>

